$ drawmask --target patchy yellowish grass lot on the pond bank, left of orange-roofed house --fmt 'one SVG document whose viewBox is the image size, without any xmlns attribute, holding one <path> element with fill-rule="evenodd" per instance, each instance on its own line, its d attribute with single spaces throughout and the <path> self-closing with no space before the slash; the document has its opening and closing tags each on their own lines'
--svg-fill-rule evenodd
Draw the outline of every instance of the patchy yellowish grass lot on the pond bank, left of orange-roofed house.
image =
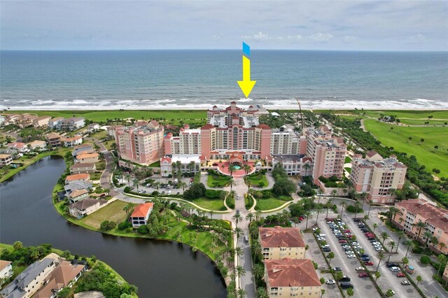
<svg viewBox="0 0 448 298">
<path fill-rule="evenodd" d="M 123 210 L 126 205 L 127 202 L 125 201 L 113 201 L 106 207 L 99 209 L 99 211 L 95 211 L 85 218 L 82 218 L 80 222 L 83 222 L 85 225 L 90 225 L 95 229 L 99 229 L 99 225 L 101 225 L 104 220 L 117 222 L 118 224 L 126 219 L 126 212 Z M 134 206 L 137 206 L 137 204 L 134 204 Z"/>
</svg>

